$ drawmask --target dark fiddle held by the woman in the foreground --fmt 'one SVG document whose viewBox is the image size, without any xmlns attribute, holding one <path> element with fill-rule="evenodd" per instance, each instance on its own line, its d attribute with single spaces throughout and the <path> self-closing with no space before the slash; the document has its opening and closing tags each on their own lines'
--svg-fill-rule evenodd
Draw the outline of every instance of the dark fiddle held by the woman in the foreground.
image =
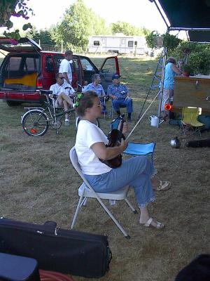
<svg viewBox="0 0 210 281">
<path fill-rule="evenodd" d="M 116 122 L 118 119 L 120 119 L 120 130 L 118 129 L 112 129 L 111 132 L 109 132 L 108 140 L 109 143 L 106 145 L 106 148 L 114 148 L 116 146 L 119 146 L 121 143 L 121 139 L 123 138 L 125 140 L 125 136 L 123 134 L 123 124 L 125 122 L 124 120 L 124 114 L 120 115 L 118 118 L 114 119 L 112 124 Z M 116 169 L 122 164 L 122 155 L 118 155 L 114 157 L 113 159 L 109 160 L 103 160 L 99 159 L 102 163 L 106 164 L 107 166 Z"/>
</svg>

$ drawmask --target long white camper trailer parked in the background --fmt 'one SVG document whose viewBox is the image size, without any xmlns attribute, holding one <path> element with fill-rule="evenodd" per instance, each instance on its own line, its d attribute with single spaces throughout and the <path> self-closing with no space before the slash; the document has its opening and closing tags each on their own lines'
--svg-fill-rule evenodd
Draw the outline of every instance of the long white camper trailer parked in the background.
<svg viewBox="0 0 210 281">
<path fill-rule="evenodd" d="M 95 35 L 89 37 L 89 53 L 119 53 L 144 55 L 148 51 L 145 37 Z"/>
</svg>

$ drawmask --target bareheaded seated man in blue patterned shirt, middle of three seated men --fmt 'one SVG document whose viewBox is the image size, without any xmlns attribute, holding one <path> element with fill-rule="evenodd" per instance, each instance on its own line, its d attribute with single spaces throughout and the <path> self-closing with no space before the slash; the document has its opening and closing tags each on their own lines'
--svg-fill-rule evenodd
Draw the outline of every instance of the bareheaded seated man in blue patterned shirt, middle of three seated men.
<svg viewBox="0 0 210 281">
<path fill-rule="evenodd" d="M 106 93 L 104 92 L 103 86 L 100 84 L 101 78 L 99 74 L 93 74 L 92 75 L 92 83 L 85 86 L 83 91 L 94 91 L 97 93 L 97 96 L 99 97 L 99 100 L 102 105 L 102 113 L 106 114 L 106 106 L 104 103 L 104 98 L 106 97 Z"/>
</svg>

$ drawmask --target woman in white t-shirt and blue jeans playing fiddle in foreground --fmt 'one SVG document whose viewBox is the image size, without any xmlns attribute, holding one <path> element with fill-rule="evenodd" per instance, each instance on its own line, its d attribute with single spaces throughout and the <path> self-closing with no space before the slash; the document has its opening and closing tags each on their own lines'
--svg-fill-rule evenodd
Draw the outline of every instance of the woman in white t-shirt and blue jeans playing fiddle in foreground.
<svg viewBox="0 0 210 281">
<path fill-rule="evenodd" d="M 120 146 L 107 148 L 108 139 L 94 121 L 101 116 L 101 103 L 97 93 L 87 91 L 77 100 L 76 112 L 80 117 L 76 134 L 76 153 L 78 162 L 87 181 L 96 192 L 114 192 L 131 185 L 141 211 L 139 223 L 142 226 L 153 226 L 162 229 L 163 223 L 151 218 L 148 213 L 148 203 L 155 200 L 151 176 L 154 168 L 151 161 L 144 156 L 132 157 L 123 161 L 117 169 L 111 169 L 99 159 L 113 159 L 123 152 L 127 142 L 122 139 Z M 127 124 L 123 126 L 123 133 L 127 131 Z M 155 185 L 158 181 L 153 179 Z M 170 185 L 165 182 L 165 185 Z"/>
</svg>

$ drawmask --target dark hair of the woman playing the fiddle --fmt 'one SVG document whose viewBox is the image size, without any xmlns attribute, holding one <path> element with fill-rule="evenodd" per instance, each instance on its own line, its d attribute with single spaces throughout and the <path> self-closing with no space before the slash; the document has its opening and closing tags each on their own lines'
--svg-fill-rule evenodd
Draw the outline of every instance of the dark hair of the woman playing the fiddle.
<svg viewBox="0 0 210 281">
<path fill-rule="evenodd" d="M 85 110 L 87 108 L 92 107 L 94 103 L 94 98 L 97 98 L 97 93 L 94 91 L 85 91 L 83 92 L 83 97 L 80 99 L 76 99 L 78 101 L 78 107 L 76 107 L 76 112 L 79 117 L 83 117 L 85 115 Z"/>
</svg>

